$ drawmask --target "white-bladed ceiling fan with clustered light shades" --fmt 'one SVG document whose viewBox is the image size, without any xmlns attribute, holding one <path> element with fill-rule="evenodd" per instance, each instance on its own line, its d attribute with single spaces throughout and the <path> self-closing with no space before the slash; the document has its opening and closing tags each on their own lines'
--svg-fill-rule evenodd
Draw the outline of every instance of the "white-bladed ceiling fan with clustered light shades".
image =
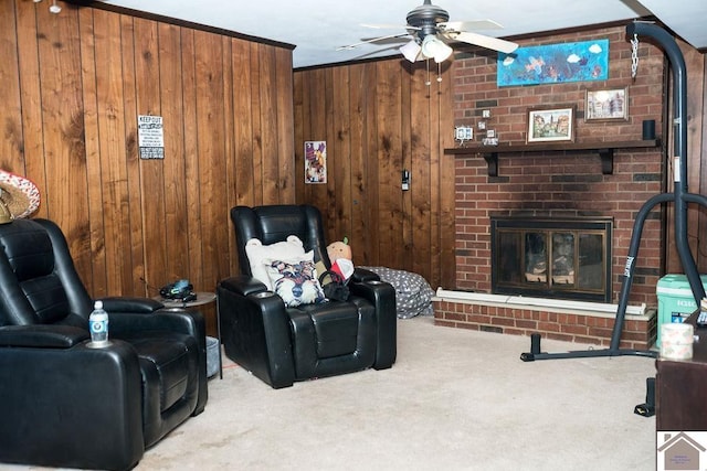
<svg viewBox="0 0 707 471">
<path fill-rule="evenodd" d="M 407 17 L 408 25 L 404 26 L 407 33 L 389 34 L 373 38 L 360 43 L 338 47 L 337 50 L 351 50 L 361 44 L 374 43 L 393 38 L 412 36 L 412 40 L 400 47 L 400 52 L 410 62 L 433 58 L 436 63 L 446 61 L 452 55 L 452 47 L 447 43 L 462 42 L 473 44 L 494 51 L 509 54 L 514 52 L 518 44 L 497 38 L 473 33 L 467 30 L 492 30 L 503 28 L 492 20 L 483 21 L 449 21 L 450 14 L 446 10 L 432 4 L 431 0 L 412 9 Z M 366 24 L 369 28 L 398 28 L 390 25 Z"/>
</svg>

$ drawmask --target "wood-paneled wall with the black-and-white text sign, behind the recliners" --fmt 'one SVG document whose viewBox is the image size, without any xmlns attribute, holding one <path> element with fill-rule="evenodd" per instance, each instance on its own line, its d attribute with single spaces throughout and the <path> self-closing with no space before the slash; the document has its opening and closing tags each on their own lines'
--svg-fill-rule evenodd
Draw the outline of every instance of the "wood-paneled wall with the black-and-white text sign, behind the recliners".
<svg viewBox="0 0 707 471">
<path fill-rule="evenodd" d="M 229 210 L 294 202 L 292 46 L 0 2 L 0 168 L 41 190 L 94 297 L 236 271 Z M 140 160 L 137 116 L 163 117 Z"/>
</svg>

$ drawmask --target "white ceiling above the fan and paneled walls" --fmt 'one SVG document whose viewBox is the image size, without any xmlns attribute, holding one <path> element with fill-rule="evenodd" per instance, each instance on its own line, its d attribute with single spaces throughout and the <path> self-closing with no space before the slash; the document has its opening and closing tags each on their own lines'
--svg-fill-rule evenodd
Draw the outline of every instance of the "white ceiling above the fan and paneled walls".
<svg viewBox="0 0 707 471">
<path fill-rule="evenodd" d="M 422 0 L 106 0 L 118 7 L 221 28 L 292 44 L 295 67 L 399 54 L 397 43 L 338 46 L 404 33 L 405 15 Z M 495 20 L 503 30 L 477 31 L 497 38 L 630 20 L 654 14 L 683 40 L 707 49 L 705 0 L 433 0 L 450 21 Z M 400 25 L 371 29 L 363 23 Z"/>
</svg>

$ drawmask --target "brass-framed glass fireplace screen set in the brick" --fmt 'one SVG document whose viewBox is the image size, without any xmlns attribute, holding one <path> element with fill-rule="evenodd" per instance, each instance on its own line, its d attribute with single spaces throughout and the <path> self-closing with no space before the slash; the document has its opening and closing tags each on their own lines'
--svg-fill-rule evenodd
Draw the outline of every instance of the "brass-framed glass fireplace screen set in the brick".
<svg viewBox="0 0 707 471">
<path fill-rule="evenodd" d="M 612 221 L 492 218 L 492 290 L 611 301 Z"/>
</svg>

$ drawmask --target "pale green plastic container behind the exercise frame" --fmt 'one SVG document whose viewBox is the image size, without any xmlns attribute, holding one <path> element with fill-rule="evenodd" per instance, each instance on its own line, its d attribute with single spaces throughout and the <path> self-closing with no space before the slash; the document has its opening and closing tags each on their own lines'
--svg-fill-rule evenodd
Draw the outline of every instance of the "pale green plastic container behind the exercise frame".
<svg viewBox="0 0 707 471">
<path fill-rule="evenodd" d="M 700 275 L 703 287 L 707 291 L 707 275 Z M 658 335 L 655 346 L 661 347 L 661 325 L 666 322 L 683 322 L 697 310 L 685 275 L 666 275 L 658 280 L 655 289 L 658 296 Z"/>
</svg>

